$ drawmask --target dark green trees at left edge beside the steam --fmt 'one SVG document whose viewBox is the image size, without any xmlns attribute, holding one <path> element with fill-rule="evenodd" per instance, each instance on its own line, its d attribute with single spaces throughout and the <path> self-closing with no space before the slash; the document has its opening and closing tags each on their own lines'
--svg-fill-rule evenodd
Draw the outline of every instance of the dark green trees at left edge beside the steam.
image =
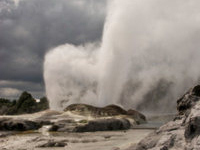
<svg viewBox="0 0 200 150">
<path fill-rule="evenodd" d="M 39 102 L 28 92 L 23 92 L 18 100 L 8 100 L 0 98 L 0 115 L 18 115 L 25 113 L 34 113 L 49 108 L 46 97 L 40 99 Z"/>
</svg>

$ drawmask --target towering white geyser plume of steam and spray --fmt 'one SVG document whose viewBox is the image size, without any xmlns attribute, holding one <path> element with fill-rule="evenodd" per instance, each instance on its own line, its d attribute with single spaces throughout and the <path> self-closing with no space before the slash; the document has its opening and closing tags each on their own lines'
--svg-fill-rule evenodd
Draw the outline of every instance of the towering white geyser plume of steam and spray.
<svg viewBox="0 0 200 150">
<path fill-rule="evenodd" d="M 177 97 L 200 79 L 199 10 L 199 0 L 109 1 L 101 44 L 65 44 L 46 54 L 50 107 L 175 111 Z"/>
</svg>

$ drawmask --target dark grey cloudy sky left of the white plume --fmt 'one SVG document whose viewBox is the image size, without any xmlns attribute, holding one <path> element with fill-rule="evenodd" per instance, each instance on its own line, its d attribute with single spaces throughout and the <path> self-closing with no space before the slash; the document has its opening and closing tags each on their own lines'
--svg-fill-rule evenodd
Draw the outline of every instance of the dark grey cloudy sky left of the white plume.
<svg viewBox="0 0 200 150">
<path fill-rule="evenodd" d="M 45 95 L 45 53 L 100 41 L 105 11 L 106 0 L 0 0 L 0 97 Z"/>
</svg>

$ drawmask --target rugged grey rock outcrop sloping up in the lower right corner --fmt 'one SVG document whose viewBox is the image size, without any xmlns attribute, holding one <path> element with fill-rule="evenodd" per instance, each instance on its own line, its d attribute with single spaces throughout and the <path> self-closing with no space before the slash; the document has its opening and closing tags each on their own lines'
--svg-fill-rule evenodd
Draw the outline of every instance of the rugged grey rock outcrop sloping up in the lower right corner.
<svg viewBox="0 0 200 150">
<path fill-rule="evenodd" d="M 178 115 L 127 150 L 200 150 L 200 85 L 177 100 Z"/>
</svg>

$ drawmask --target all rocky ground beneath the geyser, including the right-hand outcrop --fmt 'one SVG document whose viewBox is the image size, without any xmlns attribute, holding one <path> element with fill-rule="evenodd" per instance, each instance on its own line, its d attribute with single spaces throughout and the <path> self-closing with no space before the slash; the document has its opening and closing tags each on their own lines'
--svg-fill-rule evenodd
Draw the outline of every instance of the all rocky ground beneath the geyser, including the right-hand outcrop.
<svg viewBox="0 0 200 150">
<path fill-rule="evenodd" d="M 147 118 L 153 127 L 143 124 L 146 117 L 141 113 L 115 105 L 75 104 L 64 112 L 1 116 L 0 149 L 199 150 L 200 85 L 177 100 L 177 110 L 173 120 L 157 130 L 155 119 L 160 116 Z"/>
</svg>

